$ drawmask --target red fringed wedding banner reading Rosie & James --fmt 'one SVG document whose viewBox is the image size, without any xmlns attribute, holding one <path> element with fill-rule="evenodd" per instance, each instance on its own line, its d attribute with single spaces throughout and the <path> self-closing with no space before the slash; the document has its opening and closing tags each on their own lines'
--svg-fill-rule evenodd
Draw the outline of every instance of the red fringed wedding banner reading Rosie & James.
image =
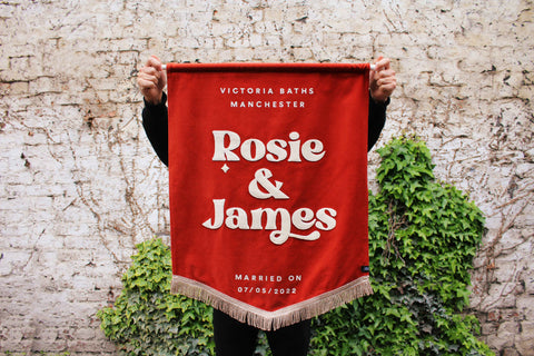
<svg viewBox="0 0 534 356">
<path fill-rule="evenodd" d="M 369 65 L 167 65 L 172 291 L 263 329 L 372 293 Z"/>
</svg>

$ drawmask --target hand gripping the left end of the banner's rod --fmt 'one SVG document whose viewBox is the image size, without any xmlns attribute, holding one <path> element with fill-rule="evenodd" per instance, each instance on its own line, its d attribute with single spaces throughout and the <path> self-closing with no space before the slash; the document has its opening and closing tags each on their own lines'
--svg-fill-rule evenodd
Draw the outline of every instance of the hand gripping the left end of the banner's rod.
<svg viewBox="0 0 534 356">
<path fill-rule="evenodd" d="M 145 100 L 151 105 L 161 102 L 164 88 L 167 86 L 167 73 L 158 57 L 151 56 L 137 75 L 137 85 Z"/>
</svg>

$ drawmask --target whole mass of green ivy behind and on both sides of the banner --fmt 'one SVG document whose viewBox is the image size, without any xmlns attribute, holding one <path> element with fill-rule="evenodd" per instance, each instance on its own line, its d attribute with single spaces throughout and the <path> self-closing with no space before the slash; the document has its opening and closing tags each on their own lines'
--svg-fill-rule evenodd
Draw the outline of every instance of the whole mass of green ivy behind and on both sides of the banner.
<svg viewBox="0 0 534 356">
<path fill-rule="evenodd" d="M 493 355 L 478 342 L 468 304 L 469 269 L 484 218 L 467 197 L 435 181 L 424 142 L 406 137 L 378 150 L 380 190 L 369 194 L 375 294 L 314 320 L 314 356 Z M 115 307 L 98 313 L 128 355 L 212 355 L 211 309 L 170 294 L 170 251 L 137 246 Z M 265 335 L 257 355 L 269 355 Z"/>
</svg>

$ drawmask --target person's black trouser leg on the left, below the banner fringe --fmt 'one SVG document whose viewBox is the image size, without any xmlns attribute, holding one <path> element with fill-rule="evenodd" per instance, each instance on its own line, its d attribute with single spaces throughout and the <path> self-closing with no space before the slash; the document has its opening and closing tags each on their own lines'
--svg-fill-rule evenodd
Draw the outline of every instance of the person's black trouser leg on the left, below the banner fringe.
<svg viewBox="0 0 534 356">
<path fill-rule="evenodd" d="M 258 329 L 214 309 L 214 338 L 217 356 L 253 356 Z"/>
</svg>

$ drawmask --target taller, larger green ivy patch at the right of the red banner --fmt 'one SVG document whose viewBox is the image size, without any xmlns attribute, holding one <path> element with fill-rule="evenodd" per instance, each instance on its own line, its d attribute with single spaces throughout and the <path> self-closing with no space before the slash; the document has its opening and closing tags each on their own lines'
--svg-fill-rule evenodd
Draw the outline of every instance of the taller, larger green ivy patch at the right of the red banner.
<svg viewBox="0 0 534 356">
<path fill-rule="evenodd" d="M 380 186 L 369 194 L 375 294 L 315 320 L 314 355 L 493 355 L 463 315 L 481 243 L 479 209 L 438 184 L 424 142 L 406 137 L 378 150 Z"/>
</svg>

